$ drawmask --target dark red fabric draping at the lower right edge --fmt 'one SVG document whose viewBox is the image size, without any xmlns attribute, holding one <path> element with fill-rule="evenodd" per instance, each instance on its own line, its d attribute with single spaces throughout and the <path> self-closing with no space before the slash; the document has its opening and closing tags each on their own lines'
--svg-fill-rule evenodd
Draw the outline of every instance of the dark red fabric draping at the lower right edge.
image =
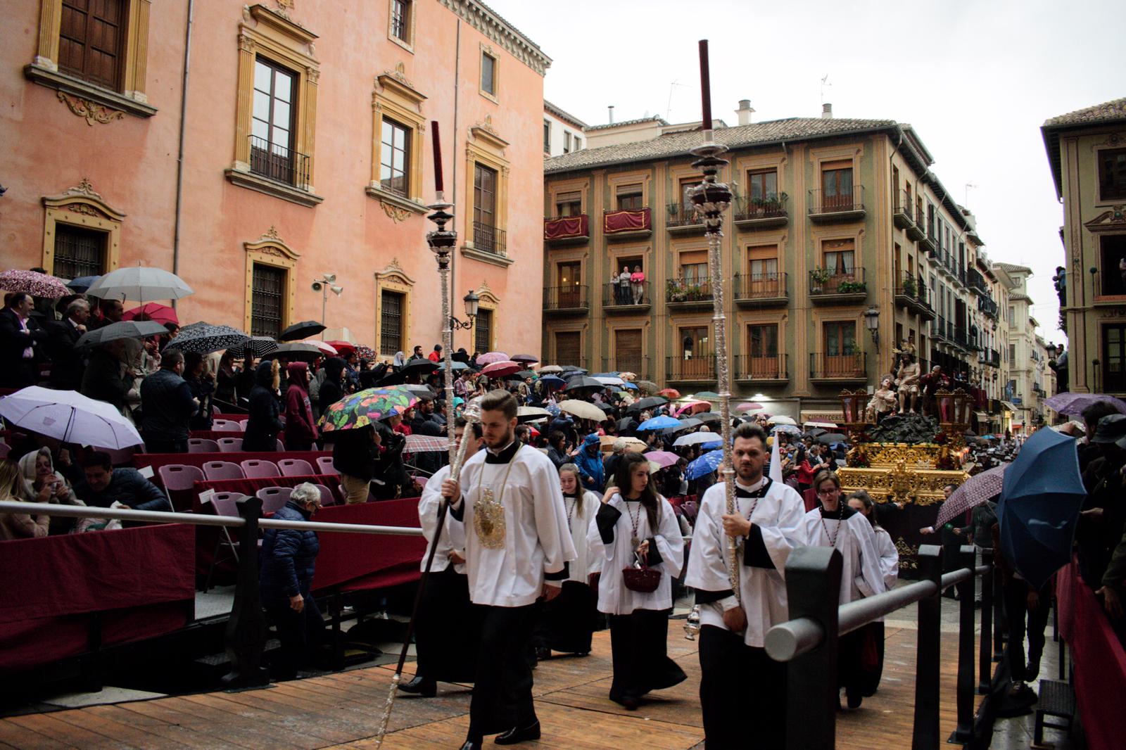
<svg viewBox="0 0 1126 750">
<path fill-rule="evenodd" d="M 1126 736 L 1126 651 L 1094 592 L 1072 562 L 1056 578 L 1060 634 L 1071 646 L 1075 700 L 1091 750 L 1120 748 Z"/>
</svg>

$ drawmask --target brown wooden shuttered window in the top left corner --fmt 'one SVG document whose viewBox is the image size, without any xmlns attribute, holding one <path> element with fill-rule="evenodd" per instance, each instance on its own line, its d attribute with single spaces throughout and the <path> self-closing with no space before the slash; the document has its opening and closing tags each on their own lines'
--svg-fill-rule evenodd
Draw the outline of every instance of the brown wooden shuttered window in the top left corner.
<svg viewBox="0 0 1126 750">
<path fill-rule="evenodd" d="M 63 0 L 59 70 L 115 91 L 125 57 L 125 0 Z"/>
</svg>

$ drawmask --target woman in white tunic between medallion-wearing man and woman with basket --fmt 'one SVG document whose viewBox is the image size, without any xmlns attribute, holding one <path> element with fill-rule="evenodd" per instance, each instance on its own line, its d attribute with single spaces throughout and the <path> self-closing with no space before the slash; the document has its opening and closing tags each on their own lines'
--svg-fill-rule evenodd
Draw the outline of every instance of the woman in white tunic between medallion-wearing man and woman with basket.
<svg viewBox="0 0 1126 750">
<path fill-rule="evenodd" d="M 598 593 L 591 588 L 590 577 L 601 570 L 601 560 L 590 553 L 587 532 L 598 512 L 600 498 L 582 489 L 579 467 L 574 464 L 560 466 L 560 489 L 578 556 L 568 566 L 563 590 L 544 602 L 539 611 L 539 620 L 531 634 L 537 659 L 549 659 L 552 651 L 586 657 L 590 653 L 590 637 L 598 620 Z"/>
</svg>

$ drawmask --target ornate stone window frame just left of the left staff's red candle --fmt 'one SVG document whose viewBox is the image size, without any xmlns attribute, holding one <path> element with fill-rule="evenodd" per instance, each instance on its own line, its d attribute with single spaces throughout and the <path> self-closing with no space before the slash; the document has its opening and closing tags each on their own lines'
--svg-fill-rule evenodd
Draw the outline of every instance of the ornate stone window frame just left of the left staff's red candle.
<svg viewBox="0 0 1126 750">
<path fill-rule="evenodd" d="M 364 191 L 378 199 L 384 213 L 395 222 L 401 222 L 411 213 L 426 214 L 422 202 L 422 160 L 426 144 L 426 117 L 422 102 L 426 96 L 418 91 L 403 74 L 403 64 L 395 71 L 386 71 L 375 79 L 372 91 L 372 180 Z M 409 196 L 401 196 L 379 186 L 379 162 L 383 149 L 383 118 L 387 117 L 411 131 L 411 163 Z"/>
</svg>

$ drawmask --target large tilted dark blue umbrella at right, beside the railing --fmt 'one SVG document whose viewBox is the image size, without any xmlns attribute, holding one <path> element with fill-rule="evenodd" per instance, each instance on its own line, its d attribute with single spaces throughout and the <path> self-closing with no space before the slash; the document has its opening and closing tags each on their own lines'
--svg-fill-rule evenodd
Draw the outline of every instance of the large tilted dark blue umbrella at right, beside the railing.
<svg viewBox="0 0 1126 750">
<path fill-rule="evenodd" d="M 1001 554 L 1033 588 L 1071 560 L 1085 497 L 1075 439 L 1055 430 L 1034 432 L 1004 470 L 997 512 Z"/>
</svg>

